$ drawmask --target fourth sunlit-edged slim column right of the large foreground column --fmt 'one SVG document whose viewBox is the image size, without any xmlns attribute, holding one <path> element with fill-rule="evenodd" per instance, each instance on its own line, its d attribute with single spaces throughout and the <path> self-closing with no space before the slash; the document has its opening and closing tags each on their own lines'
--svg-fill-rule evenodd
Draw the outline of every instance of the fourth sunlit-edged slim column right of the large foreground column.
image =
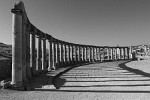
<svg viewBox="0 0 150 100">
<path fill-rule="evenodd" d="M 52 57 L 52 38 L 49 40 L 49 67 L 48 71 L 52 70 L 53 57 Z"/>
</svg>

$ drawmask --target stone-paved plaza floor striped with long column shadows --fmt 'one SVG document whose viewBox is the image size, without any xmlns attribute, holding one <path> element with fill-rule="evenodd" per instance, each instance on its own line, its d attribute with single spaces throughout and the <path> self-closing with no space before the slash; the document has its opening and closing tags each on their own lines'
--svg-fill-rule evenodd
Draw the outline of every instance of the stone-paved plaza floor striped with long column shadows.
<svg viewBox="0 0 150 100">
<path fill-rule="evenodd" d="M 71 69 L 32 91 L 0 90 L 0 100 L 149 100 L 150 77 L 124 69 L 125 61 Z M 121 65 L 120 65 L 121 64 Z"/>
</svg>

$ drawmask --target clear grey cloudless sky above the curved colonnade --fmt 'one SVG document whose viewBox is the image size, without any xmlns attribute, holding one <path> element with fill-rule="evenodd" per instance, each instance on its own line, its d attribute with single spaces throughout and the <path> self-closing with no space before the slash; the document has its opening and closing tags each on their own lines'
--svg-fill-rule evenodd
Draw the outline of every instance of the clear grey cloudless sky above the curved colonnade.
<svg viewBox="0 0 150 100">
<path fill-rule="evenodd" d="M 0 0 L 0 42 L 12 44 L 15 2 Z M 42 32 L 78 44 L 133 46 L 150 43 L 150 0 L 22 0 Z"/>
</svg>

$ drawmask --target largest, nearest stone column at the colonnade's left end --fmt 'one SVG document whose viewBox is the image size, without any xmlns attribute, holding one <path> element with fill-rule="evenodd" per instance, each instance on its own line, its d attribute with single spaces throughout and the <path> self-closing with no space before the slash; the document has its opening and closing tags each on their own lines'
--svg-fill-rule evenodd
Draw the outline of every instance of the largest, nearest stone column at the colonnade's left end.
<svg viewBox="0 0 150 100">
<path fill-rule="evenodd" d="M 23 86 L 22 75 L 22 15 L 21 10 L 12 9 L 12 81 L 11 84 L 15 87 Z"/>
</svg>

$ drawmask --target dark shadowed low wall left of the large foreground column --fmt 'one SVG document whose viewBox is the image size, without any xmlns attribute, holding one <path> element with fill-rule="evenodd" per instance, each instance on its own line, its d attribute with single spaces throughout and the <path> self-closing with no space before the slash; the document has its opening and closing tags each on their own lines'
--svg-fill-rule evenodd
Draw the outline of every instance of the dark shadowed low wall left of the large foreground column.
<svg viewBox="0 0 150 100">
<path fill-rule="evenodd" d="M 6 79 L 11 77 L 11 59 L 1 59 L 0 60 L 0 79 Z"/>
</svg>

